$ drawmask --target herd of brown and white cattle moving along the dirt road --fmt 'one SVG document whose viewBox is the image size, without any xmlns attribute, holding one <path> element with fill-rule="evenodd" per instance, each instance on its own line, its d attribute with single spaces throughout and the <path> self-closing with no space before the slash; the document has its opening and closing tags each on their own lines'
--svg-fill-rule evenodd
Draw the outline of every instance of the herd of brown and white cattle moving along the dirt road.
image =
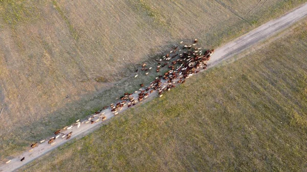
<svg viewBox="0 0 307 172">
<path fill-rule="evenodd" d="M 82 122 L 80 122 L 78 119 L 70 127 L 67 126 L 61 130 L 57 130 L 54 133 L 55 136 L 50 138 L 48 143 L 53 145 L 54 141 L 60 136 L 62 139 L 71 138 L 73 132 L 64 134 L 61 133 L 61 131 L 69 131 L 75 126 L 79 128 L 82 124 L 94 124 L 100 119 L 102 121 L 106 120 L 104 110 L 109 109 L 114 115 L 117 115 L 119 111 L 121 111 L 124 107 L 130 108 L 131 106 L 136 105 L 138 102 L 143 101 L 155 91 L 158 91 L 159 97 L 161 97 L 164 91 L 169 91 L 170 89 L 176 87 L 176 85 L 183 84 L 185 80 L 192 76 L 194 73 L 198 73 L 200 70 L 206 69 L 207 62 L 210 59 L 210 56 L 213 54 L 214 50 L 202 50 L 202 48 L 196 46 L 197 42 L 198 40 L 195 39 L 193 44 L 182 44 L 183 42 L 180 42 L 181 45 L 173 46 L 169 53 L 167 53 L 162 58 L 156 59 L 157 66 L 155 68 L 156 72 L 158 73 L 158 77 L 152 81 L 149 86 L 144 87 L 144 84 L 140 84 L 141 88 L 138 91 L 135 91 L 134 93 L 124 93 L 124 95 L 120 97 L 120 100 L 118 100 L 117 103 L 103 107 L 101 110 L 95 112 L 95 115 L 90 116 Z M 144 63 L 140 69 L 141 71 L 137 69 L 136 73 L 140 74 L 144 72 L 145 75 L 148 75 L 151 69 L 152 67 L 148 67 L 147 64 Z M 164 75 L 159 75 L 161 71 L 164 71 Z M 136 77 L 138 77 L 138 75 L 135 75 L 135 78 Z M 45 142 L 45 140 L 41 140 L 40 143 Z M 35 148 L 36 146 L 38 146 L 37 142 L 33 143 L 31 148 Z M 23 160 L 25 160 L 25 157 L 20 161 Z"/>
</svg>

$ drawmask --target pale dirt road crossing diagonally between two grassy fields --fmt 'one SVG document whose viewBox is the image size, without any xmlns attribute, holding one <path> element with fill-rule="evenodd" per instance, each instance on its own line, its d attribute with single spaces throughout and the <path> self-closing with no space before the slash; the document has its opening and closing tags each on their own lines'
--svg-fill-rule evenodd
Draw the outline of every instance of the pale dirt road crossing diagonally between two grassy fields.
<svg viewBox="0 0 307 172">
<path fill-rule="evenodd" d="M 277 18 L 275 20 L 263 24 L 262 26 L 249 32 L 248 34 L 243 35 L 237 38 L 236 40 L 218 48 L 215 51 L 215 53 L 211 56 L 211 60 L 208 63 L 209 66 L 212 67 L 223 60 L 226 60 L 234 55 L 239 54 L 240 52 L 246 50 L 248 47 L 257 44 L 260 41 L 266 40 L 268 37 L 288 28 L 296 21 L 300 20 L 305 16 L 307 16 L 307 4 L 287 13 L 286 15 L 281 16 L 280 18 Z M 136 97 L 136 95 L 134 96 Z M 154 96 L 155 94 L 151 95 L 150 99 L 152 99 Z M 109 110 L 104 110 L 102 112 L 105 112 L 107 119 L 112 118 L 114 116 L 114 114 Z M 93 130 L 99 128 L 103 124 L 105 124 L 105 122 L 102 122 L 101 120 L 92 125 L 83 124 L 80 126 L 80 128 L 73 127 L 72 130 L 65 131 L 64 134 L 73 131 L 71 139 L 76 137 L 82 137 L 92 132 Z M 49 138 L 47 138 L 45 142 L 39 144 L 37 148 L 34 148 L 30 152 L 25 152 L 21 154 L 19 157 L 15 157 L 8 164 L 2 164 L 0 166 L 0 171 L 14 171 L 68 141 L 65 138 L 62 139 L 61 137 L 59 137 L 58 139 L 56 139 L 54 145 L 49 145 L 48 140 Z M 25 160 L 21 162 L 20 159 L 23 157 L 25 157 Z"/>
</svg>

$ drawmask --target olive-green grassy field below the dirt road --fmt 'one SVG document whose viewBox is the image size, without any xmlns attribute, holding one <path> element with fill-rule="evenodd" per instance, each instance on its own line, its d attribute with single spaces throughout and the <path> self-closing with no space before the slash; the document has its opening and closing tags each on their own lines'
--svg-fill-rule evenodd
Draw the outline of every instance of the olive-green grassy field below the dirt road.
<svg viewBox="0 0 307 172">
<path fill-rule="evenodd" d="M 307 20 L 20 171 L 306 171 Z"/>
</svg>

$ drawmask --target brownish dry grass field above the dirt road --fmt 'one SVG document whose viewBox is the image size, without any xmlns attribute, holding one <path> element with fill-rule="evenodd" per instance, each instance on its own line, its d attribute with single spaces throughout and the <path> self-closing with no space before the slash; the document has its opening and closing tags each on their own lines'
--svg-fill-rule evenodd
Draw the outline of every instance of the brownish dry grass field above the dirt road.
<svg viewBox="0 0 307 172">
<path fill-rule="evenodd" d="M 0 0 L 0 159 L 145 84 L 128 77 L 174 43 L 217 47 L 306 1 L 258 2 Z"/>
</svg>

